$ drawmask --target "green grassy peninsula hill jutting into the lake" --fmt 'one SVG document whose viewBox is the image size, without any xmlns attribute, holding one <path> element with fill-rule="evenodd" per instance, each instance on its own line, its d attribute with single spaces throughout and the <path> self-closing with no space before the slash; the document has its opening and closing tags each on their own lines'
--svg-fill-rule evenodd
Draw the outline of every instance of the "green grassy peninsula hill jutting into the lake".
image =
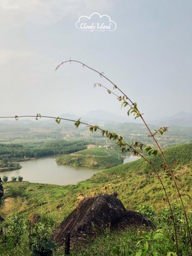
<svg viewBox="0 0 192 256">
<path fill-rule="evenodd" d="M 105 148 L 81 150 L 57 158 L 57 164 L 74 165 L 89 168 L 111 168 L 123 163 L 118 151 Z"/>
</svg>

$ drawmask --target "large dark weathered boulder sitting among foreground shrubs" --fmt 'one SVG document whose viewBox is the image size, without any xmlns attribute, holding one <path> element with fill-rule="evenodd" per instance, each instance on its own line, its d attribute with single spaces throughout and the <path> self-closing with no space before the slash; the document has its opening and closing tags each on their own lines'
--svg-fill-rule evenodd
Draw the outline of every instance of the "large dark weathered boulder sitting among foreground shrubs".
<svg viewBox="0 0 192 256">
<path fill-rule="evenodd" d="M 70 232 L 72 244 L 94 236 L 104 228 L 116 229 L 130 225 L 154 227 L 143 214 L 127 211 L 122 202 L 108 194 L 82 200 L 77 208 L 53 231 L 52 239 L 60 246 Z"/>
</svg>

